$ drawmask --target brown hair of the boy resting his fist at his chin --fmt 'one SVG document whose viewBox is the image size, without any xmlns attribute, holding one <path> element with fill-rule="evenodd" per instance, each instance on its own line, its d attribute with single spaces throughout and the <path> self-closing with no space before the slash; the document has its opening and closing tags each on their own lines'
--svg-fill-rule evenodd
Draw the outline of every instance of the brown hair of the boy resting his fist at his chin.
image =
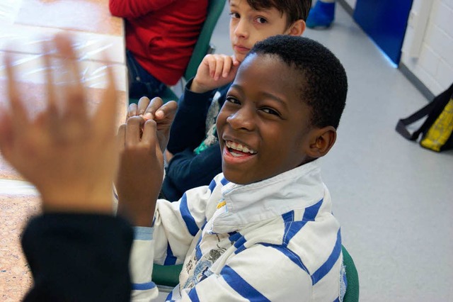
<svg viewBox="0 0 453 302">
<path fill-rule="evenodd" d="M 306 21 L 311 8 L 311 0 L 247 0 L 247 3 L 255 10 L 275 7 L 280 13 L 286 13 L 288 26 L 300 19 Z"/>
</svg>

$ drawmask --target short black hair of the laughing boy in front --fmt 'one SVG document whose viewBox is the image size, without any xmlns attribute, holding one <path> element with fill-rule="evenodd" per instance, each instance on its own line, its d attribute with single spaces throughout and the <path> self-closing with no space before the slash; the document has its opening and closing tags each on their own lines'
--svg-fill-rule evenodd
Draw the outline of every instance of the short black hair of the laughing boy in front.
<svg viewBox="0 0 453 302">
<path fill-rule="evenodd" d="M 333 53 L 321 43 L 291 35 L 275 35 L 256 43 L 248 55 L 279 57 L 300 74 L 300 98 L 311 107 L 311 125 L 338 128 L 346 103 L 348 78 Z"/>
</svg>

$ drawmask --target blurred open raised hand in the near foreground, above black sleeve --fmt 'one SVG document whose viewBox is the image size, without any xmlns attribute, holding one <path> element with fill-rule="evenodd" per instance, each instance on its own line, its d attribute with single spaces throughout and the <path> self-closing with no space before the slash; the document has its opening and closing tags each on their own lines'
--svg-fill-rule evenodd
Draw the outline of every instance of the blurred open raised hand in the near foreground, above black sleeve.
<svg viewBox="0 0 453 302">
<path fill-rule="evenodd" d="M 7 57 L 10 108 L 0 114 L 0 150 L 40 191 L 44 211 L 111 214 L 117 167 L 113 74 L 107 69 L 108 88 L 103 100 L 96 114 L 88 114 L 71 40 L 56 35 L 45 45 L 45 50 L 49 49 L 57 50 L 55 60 L 62 61 L 69 84 L 57 90 L 50 58 L 45 55 L 47 108 L 36 118 L 30 118 L 26 111 L 12 59 Z"/>
</svg>

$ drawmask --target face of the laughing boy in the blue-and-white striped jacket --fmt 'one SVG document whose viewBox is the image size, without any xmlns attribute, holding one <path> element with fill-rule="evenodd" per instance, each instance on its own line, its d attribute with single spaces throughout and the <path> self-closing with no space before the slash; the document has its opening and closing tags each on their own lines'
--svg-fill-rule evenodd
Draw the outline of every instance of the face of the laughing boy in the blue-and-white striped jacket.
<svg viewBox="0 0 453 302">
<path fill-rule="evenodd" d="M 270 55 L 253 54 L 241 64 L 217 117 L 229 181 L 250 184 L 309 160 L 311 111 L 294 77 L 291 67 Z"/>
</svg>

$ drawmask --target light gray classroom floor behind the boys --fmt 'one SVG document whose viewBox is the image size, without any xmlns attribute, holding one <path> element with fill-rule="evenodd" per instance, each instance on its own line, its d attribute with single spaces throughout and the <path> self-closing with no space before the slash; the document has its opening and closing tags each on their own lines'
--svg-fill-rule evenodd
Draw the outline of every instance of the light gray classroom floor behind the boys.
<svg viewBox="0 0 453 302">
<path fill-rule="evenodd" d="M 231 54 L 225 9 L 212 37 Z M 453 152 L 435 153 L 394 130 L 427 100 L 341 6 L 328 30 L 304 36 L 329 47 L 349 79 L 338 140 L 323 179 L 361 301 L 453 301 Z"/>
</svg>

